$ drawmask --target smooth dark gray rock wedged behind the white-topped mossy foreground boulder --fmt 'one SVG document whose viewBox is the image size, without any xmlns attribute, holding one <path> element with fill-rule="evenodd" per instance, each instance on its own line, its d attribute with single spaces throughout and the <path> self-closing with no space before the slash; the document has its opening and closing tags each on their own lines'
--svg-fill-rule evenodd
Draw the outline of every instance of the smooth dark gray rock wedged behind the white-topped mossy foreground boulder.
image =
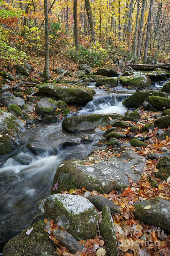
<svg viewBox="0 0 170 256">
<path fill-rule="evenodd" d="M 100 211 L 107 205 L 112 213 L 120 212 L 119 207 L 104 196 L 88 196 L 87 199 Z"/>
</svg>

